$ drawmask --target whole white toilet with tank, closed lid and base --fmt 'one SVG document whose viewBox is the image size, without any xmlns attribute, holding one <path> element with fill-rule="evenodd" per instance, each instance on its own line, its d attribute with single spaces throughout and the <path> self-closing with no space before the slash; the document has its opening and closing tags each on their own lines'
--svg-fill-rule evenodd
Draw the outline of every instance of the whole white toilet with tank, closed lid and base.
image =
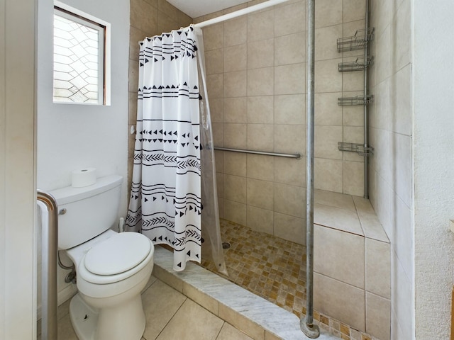
<svg viewBox="0 0 454 340">
<path fill-rule="evenodd" d="M 58 246 L 74 262 L 79 293 L 70 317 L 80 340 L 139 340 L 145 329 L 140 291 L 153 270 L 153 243 L 116 223 L 121 176 L 84 188 L 51 191 L 57 200 Z"/>
</svg>

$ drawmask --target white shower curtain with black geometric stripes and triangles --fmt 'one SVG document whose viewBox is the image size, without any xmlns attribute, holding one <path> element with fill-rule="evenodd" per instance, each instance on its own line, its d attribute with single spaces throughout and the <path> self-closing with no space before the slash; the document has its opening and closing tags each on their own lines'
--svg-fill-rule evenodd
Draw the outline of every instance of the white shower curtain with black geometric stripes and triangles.
<svg viewBox="0 0 454 340">
<path fill-rule="evenodd" d="M 199 124 L 197 50 L 191 27 L 140 42 L 126 230 L 142 232 L 154 244 L 172 246 L 175 271 L 184 270 L 187 261 L 200 262 L 202 216 L 206 215 L 201 194 L 204 134 Z M 217 243 L 221 246 L 220 236 Z"/>
</svg>

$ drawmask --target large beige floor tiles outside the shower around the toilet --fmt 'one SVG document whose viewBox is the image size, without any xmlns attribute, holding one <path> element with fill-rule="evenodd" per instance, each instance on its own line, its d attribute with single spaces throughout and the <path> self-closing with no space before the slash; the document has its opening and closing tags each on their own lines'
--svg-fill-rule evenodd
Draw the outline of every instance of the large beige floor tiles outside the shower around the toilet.
<svg viewBox="0 0 454 340">
<path fill-rule="evenodd" d="M 147 318 L 142 340 L 253 340 L 153 276 L 142 301 Z M 58 339 L 78 340 L 70 321 L 69 302 L 58 308 Z"/>
</svg>

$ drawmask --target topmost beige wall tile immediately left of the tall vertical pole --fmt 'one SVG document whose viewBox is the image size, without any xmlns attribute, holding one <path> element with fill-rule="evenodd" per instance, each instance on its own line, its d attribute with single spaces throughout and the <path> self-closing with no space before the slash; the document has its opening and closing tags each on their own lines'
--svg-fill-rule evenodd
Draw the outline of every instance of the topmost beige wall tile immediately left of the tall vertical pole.
<svg viewBox="0 0 454 340">
<path fill-rule="evenodd" d="M 287 35 L 306 30 L 305 1 L 275 9 L 275 36 Z"/>
</svg>

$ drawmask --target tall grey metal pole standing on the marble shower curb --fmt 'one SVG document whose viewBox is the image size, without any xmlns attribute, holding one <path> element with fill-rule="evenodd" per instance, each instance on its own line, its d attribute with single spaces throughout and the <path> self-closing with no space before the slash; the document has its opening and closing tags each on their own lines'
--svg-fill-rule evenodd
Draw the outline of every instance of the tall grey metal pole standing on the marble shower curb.
<svg viewBox="0 0 454 340">
<path fill-rule="evenodd" d="M 306 317 L 301 331 L 311 339 L 320 335 L 314 324 L 314 79 L 315 0 L 307 1 L 307 132 L 306 132 Z"/>
</svg>

